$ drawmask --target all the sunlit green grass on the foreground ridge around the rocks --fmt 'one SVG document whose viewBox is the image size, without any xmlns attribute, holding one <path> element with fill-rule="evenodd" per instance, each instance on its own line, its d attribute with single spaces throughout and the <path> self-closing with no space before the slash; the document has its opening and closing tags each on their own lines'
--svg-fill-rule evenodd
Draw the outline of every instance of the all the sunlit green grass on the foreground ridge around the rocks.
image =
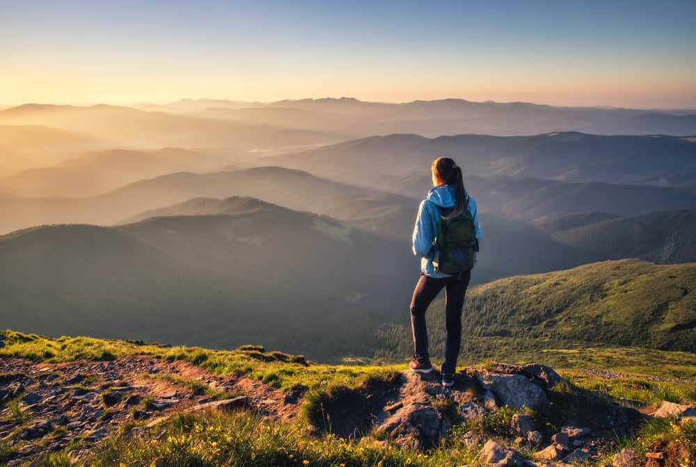
<svg viewBox="0 0 696 467">
<path fill-rule="evenodd" d="M 340 438 L 336 434 L 340 433 L 340 420 L 325 417 L 325 413 L 328 413 L 326 409 L 331 407 L 331 404 L 348 404 L 345 407 L 352 407 L 349 404 L 354 404 L 349 413 L 365 409 L 366 404 L 370 403 L 365 395 L 397 384 L 400 370 L 406 368 L 404 365 L 327 366 L 283 352 L 267 352 L 258 346 L 244 346 L 237 350 L 225 351 L 157 344 L 141 345 L 92 338 L 50 339 L 13 331 L 6 331 L 3 336 L 5 346 L 0 348 L 0 356 L 60 362 L 76 359 L 98 360 L 102 359 L 104 352 L 108 352 L 114 358 L 143 354 L 169 361 L 189 361 L 219 375 L 242 372 L 277 388 L 303 386 L 306 391 L 301 416 L 294 423 L 271 423 L 248 412 L 196 413 L 175 416 L 162 425 L 164 432 L 161 432 L 159 427 L 157 431 L 146 431 L 144 439 L 129 437 L 129 430 L 122 429 L 118 434 L 97 445 L 93 457 L 88 459 L 88 465 L 94 467 L 471 465 L 475 464 L 474 457 L 480 450 L 480 445 L 466 445 L 464 434 L 474 432 L 484 436 L 484 439 L 492 436 L 501 443 L 511 445 L 515 435 L 510 432 L 510 421 L 515 413 L 520 412 L 503 407 L 489 412 L 479 420 L 457 423 L 452 427 L 448 439 L 441 445 L 426 452 L 414 452 L 390 444 L 388 440 L 375 439 L 374 436 L 370 436 L 369 427 L 362 433 L 367 435 L 363 439 Z M 688 358 L 681 359 L 681 354 L 686 354 Z M 696 374 L 696 357 L 688 352 L 585 347 L 558 350 L 555 355 L 571 363 L 578 363 L 586 357 L 594 358 L 592 363 L 621 361 L 623 366 L 610 367 L 619 372 L 630 372 L 631 368 L 638 368 L 638 362 L 642 359 L 642 375 L 650 374 L 651 368 L 657 368 L 658 361 L 662 361 L 670 368 L 665 372 L 658 371 L 658 374 L 669 377 Z M 546 354 L 542 354 L 541 357 L 537 354 L 536 357 L 535 360 L 544 363 L 548 361 Z M 521 357 L 517 354 L 515 358 Z M 531 415 L 539 427 L 546 427 L 546 432 L 557 429 L 568 420 L 576 420 L 580 425 L 585 425 L 584 422 L 591 425 L 592 420 L 583 418 L 588 412 L 592 412 L 588 401 L 599 403 L 608 400 L 624 404 L 631 404 L 633 401 L 644 405 L 654 405 L 661 400 L 696 402 L 696 385 L 693 384 L 650 381 L 640 377 L 639 373 L 627 379 L 605 380 L 599 375 L 581 372 L 578 368 L 582 367 L 579 364 L 571 364 L 565 370 L 561 370 L 567 382 L 549 391 L 549 398 L 553 402 L 551 409 L 539 412 L 523 411 Z M 212 398 L 222 396 L 222 391 L 217 393 L 214 388 L 209 388 L 198 380 L 183 379 L 175 375 L 153 377 L 182 384 L 199 395 L 205 394 Z M 599 402 L 596 402 L 598 400 Z M 147 408 L 151 402 L 144 398 L 139 407 Z M 452 420 L 457 419 L 457 407 L 452 400 L 443 400 L 435 404 Z M 26 413 L 19 411 L 19 399 L 8 402 L 8 407 L 12 417 L 24 420 Z M 318 432 L 310 429 L 309 423 L 319 427 Z M 657 442 L 673 442 L 686 446 L 684 455 L 691 457 L 685 459 L 694 459 L 696 424 L 679 425 L 674 420 L 653 420 L 645 424 L 635 435 L 619 440 L 619 445 L 645 452 Z M 79 441 L 76 441 L 69 448 L 74 449 L 78 446 Z M 67 452 L 68 448 L 63 452 L 47 454 L 33 461 L 31 465 L 72 465 Z M 530 453 L 529 450 L 523 450 L 523 454 Z M 15 448 L 0 444 L 0 464 L 3 456 L 9 459 L 13 454 Z M 605 460 L 608 460 L 608 464 L 611 463 L 609 458 Z M 693 464 L 688 462 L 690 461 L 683 465 L 691 467 Z"/>
</svg>

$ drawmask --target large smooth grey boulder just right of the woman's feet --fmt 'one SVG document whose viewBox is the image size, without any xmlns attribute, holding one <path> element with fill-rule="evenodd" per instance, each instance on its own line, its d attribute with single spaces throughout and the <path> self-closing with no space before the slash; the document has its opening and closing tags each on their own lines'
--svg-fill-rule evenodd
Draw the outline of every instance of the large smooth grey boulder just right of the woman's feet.
<svg viewBox="0 0 696 467">
<path fill-rule="evenodd" d="M 523 407 L 537 409 L 548 406 L 548 398 L 546 398 L 544 389 L 522 375 L 484 372 L 477 377 L 484 388 L 490 389 L 503 404 L 507 404 L 513 409 Z"/>
</svg>

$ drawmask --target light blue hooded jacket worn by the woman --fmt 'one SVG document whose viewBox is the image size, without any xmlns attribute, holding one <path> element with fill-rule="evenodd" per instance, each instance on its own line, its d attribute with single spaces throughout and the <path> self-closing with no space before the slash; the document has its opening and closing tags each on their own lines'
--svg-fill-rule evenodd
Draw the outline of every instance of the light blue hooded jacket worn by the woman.
<svg viewBox="0 0 696 467">
<path fill-rule="evenodd" d="M 478 220 L 476 201 L 466 193 L 468 197 L 468 211 L 474 219 L 476 226 L 476 239 L 481 245 L 481 226 Z M 448 277 L 443 272 L 436 272 L 433 265 L 433 245 L 437 232 L 437 223 L 440 220 L 440 209 L 452 208 L 457 204 L 454 197 L 454 187 L 450 185 L 440 185 L 431 188 L 426 199 L 420 203 L 418 216 L 416 216 L 416 227 L 413 229 L 413 254 L 421 256 L 420 271 L 429 277 Z M 474 256 L 475 258 L 475 256 Z"/>
</svg>

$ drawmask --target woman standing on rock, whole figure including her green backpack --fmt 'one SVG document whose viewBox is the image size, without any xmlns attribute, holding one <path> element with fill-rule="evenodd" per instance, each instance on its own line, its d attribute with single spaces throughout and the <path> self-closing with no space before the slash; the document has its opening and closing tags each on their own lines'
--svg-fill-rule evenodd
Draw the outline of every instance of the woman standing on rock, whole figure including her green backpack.
<svg viewBox="0 0 696 467">
<path fill-rule="evenodd" d="M 451 158 L 431 165 L 434 188 L 420 203 L 413 229 L 413 253 L 421 256 L 420 278 L 411 300 L 411 329 L 415 351 L 409 367 L 414 372 L 434 370 L 428 354 L 425 311 L 445 288 L 445 361 L 443 386 L 454 386 L 461 344 L 461 309 L 481 241 L 475 200 L 464 188 L 461 168 Z"/>
</svg>

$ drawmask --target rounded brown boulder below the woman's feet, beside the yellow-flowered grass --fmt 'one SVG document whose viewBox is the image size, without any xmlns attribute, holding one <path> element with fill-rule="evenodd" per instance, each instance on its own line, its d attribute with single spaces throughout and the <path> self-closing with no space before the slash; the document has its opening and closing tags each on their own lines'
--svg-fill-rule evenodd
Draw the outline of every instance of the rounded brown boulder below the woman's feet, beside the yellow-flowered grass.
<svg viewBox="0 0 696 467">
<path fill-rule="evenodd" d="M 387 418 L 379 431 L 400 445 L 431 448 L 447 435 L 450 427 L 442 413 L 430 404 L 413 402 Z"/>
</svg>

